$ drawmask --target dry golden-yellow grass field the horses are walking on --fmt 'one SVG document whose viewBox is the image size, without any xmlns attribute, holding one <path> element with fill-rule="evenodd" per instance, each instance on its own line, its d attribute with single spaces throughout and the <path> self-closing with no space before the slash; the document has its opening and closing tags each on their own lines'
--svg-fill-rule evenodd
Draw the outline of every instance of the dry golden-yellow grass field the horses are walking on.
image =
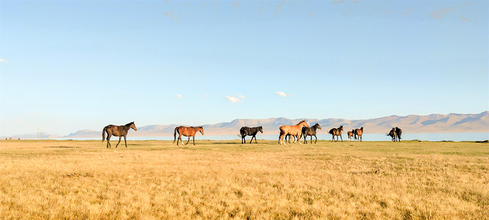
<svg viewBox="0 0 489 220">
<path fill-rule="evenodd" d="M 489 218 L 487 143 L 258 142 L 1 140 L 0 219 Z"/>
</svg>

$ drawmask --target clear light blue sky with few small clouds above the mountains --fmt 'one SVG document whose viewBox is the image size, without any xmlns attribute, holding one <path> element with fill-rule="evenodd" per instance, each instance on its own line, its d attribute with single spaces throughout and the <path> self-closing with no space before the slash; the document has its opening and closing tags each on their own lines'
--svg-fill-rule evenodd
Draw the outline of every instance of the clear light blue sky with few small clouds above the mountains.
<svg viewBox="0 0 489 220">
<path fill-rule="evenodd" d="M 0 132 L 480 113 L 488 4 L 1 0 Z"/>
</svg>

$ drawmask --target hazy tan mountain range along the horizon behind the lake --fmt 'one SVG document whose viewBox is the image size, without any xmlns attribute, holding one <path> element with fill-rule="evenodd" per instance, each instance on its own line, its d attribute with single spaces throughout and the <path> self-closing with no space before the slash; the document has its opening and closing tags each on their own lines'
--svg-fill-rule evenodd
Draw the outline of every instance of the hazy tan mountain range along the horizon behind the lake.
<svg viewBox="0 0 489 220">
<path fill-rule="evenodd" d="M 264 134 L 278 134 L 282 125 L 295 125 L 305 118 L 268 118 L 268 119 L 235 119 L 231 122 L 222 122 L 213 125 L 204 125 L 205 135 L 235 135 L 243 126 L 262 126 Z M 400 127 L 403 132 L 489 132 L 489 111 L 479 114 L 430 114 L 430 115 L 392 115 L 366 120 L 348 119 L 306 119 L 312 126 L 318 123 L 323 129 L 318 133 L 328 133 L 332 128 L 343 125 L 344 132 L 354 128 L 364 127 L 366 133 L 386 133 L 393 127 Z M 177 124 L 171 125 L 147 125 L 137 129 L 137 132 L 129 130 L 131 136 L 171 136 Z M 188 125 L 185 125 L 188 126 Z M 194 125 L 197 126 L 197 125 Z M 102 131 L 80 130 L 70 133 L 62 138 L 74 137 L 100 137 Z M 37 134 L 24 134 L 11 136 L 15 138 L 37 138 Z M 43 138 L 58 138 L 59 135 L 43 134 Z M 6 136 L 2 136 L 2 139 Z"/>
</svg>

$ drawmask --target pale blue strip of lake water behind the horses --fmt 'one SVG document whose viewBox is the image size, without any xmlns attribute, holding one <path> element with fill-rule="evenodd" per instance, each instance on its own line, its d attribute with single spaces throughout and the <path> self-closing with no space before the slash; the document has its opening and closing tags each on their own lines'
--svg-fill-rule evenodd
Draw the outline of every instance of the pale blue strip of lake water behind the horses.
<svg viewBox="0 0 489 220">
<path fill-rule="evenodd" d="M 342 134 L 343 141 L 348 141 L 348 135 L 346 132 Z M 384 133 L 364 133 L 364 141 L 390 141 L 391 137 L 385 135 Z M 250 136 L 245 137 L 246 140 L 250 140 Z M 278 134 L 257 134 L 256 138 L 258 140 L 277 140 Z M 402 133 L 401 140 L 422 140 L 422 141 L 483 141 L 489 140 L 489 132 L 460 132 L 460 133 Z M 78 137 L 78 138 L 49 138 L 54 140 L 102 140 L 100 137 Z M 116 141 L 117 137 L 112 137 L 111 141 Z M 187 137 L 182 136 L 183 141 L 187 141 Z M 192 138 L 191 138 L 192 139 Z M 196 140 L 241 140 L 238 135 L 200 135 L 197 134 Z M 308 137 L 308 140 L 311 138 Z M 331 134 L 318 134 L 318 140 L 331 140 Z M 147 137 L 134 137 L 127 136 L 127 140 L 171 140 L 173 141 L 173 136 L 147 136 Z M 314 140 L 314 137 L 312 137 Z M 339 139 L 341 141 L 341 138 Z M 191 140 L 192 141 L 192 140 Z"/>
</svg>

